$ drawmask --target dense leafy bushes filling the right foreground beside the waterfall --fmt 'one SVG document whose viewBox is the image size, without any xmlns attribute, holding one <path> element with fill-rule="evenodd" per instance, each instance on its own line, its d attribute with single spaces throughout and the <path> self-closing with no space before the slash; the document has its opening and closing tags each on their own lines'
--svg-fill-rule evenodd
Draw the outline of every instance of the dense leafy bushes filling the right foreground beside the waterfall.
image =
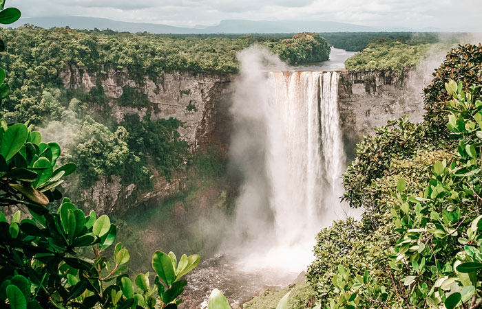
<svg viewBox="0 0 482 309">
<path fill-rule="evenodd" d="M 322 307 L 481 306 L 481 51 L 452 49 L 424 122 L 399 119 L 357 146 L 344 199 L 364 216 L 319 233 L 308 268 Z"/>
</svg>

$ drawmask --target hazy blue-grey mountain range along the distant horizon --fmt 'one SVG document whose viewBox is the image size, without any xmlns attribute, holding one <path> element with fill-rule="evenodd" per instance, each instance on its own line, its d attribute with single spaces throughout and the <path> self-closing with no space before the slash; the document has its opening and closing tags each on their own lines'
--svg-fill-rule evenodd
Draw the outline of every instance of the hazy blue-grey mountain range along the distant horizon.
<svg viewBox="0 0 482 309">
<path fill-rule="evenodd" d="M 244 33 L 297 33 L 297 32 L 381 32 L 406 31 L 413 32 L 408 27 L 367 27 L 351 23 L 334 21 L 247 21 L 231 19 L 221 21 L 219 25 L 194 27 L 173 27 L 156 23 L 130 23 L 85 16 L 66 17 L 32 17 L 22 18 L 10 26 L 19 27 L 30 23 L 44 28 L 71 27 L 81 30 L 114 30 L 118 32 L 150 32 L 157 34 L 244 34 Z"/>
</svg>

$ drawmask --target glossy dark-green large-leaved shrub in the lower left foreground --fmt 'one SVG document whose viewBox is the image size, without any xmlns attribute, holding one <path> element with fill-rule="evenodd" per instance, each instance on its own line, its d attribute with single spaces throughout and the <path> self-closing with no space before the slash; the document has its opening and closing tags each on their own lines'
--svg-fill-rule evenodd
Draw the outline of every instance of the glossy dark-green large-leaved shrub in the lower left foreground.
<svg viewBox="0 0 482 309">
<path fill-rule="evenodd" d="M 156 251 L 149 273 L 132 280 L 124 273 L 129 252 L 116 244 L 113 259 L 106 249 L 116 240 L 117 227 L 106 215 L 85 216 L 68 198 L 49 212 L 43 205 L 61 198 L 56 187 L 76 165 L 55 165 L 61 148 L 41 142 L 41 134 L 25 124 L 0 126 L 1 205 L 28 207 L 32 218 L 17 211 L 10 222 L 0 211 L 0 306 L 10 308 L 177 308 L 187 284 L 182 279 L 199 264 L 199 255 Z M 83 247 L 92 257 L 81 256 Z M 115 280 L 115 281 L 114 281 Z"/>
</svg>

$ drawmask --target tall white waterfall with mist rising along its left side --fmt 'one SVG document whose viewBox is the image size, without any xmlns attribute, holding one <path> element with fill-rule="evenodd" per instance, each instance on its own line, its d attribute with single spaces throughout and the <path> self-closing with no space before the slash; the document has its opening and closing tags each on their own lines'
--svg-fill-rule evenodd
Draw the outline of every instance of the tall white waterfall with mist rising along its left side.
<svg viewBox="0 0 482 309">
<path fill-rule="evenodd" d="M 243 180 L 228 247 L 247 270 L 300 272 L 319 230 L 342 218 L 339 73 L 267 73 L 263 59 L 241 55 L 235 82 L 230 155 Z"/>
</svg>

